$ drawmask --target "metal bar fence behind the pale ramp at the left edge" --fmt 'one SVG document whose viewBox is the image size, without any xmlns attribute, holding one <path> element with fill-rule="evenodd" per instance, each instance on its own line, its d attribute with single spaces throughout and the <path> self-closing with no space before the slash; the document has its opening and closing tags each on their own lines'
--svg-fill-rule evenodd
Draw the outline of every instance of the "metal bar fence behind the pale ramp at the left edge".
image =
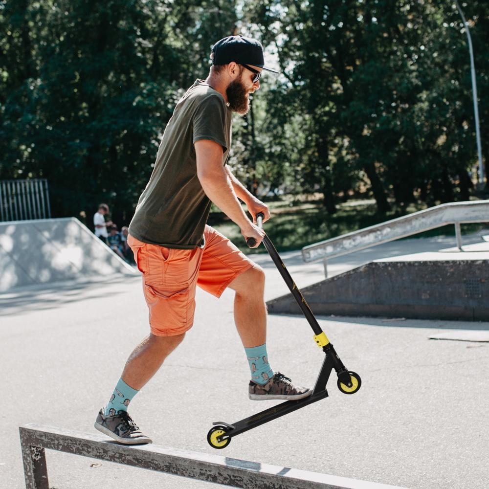
<svg viewBox="0 0 489 489">
<path fill-rule="evenodd" d="M 45 178 L 0 181 L 0 221 L 50 217 L 49 191 Z"/>
</svg>

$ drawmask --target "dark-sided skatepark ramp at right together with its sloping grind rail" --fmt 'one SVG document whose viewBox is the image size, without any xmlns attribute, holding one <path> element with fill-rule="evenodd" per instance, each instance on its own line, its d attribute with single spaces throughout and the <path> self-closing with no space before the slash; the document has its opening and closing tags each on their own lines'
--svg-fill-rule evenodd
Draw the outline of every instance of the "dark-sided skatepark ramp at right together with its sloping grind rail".
<svg viewBox="0 0 489 489">
<path fill-rule="evenodd" d="M 302 289 L 315 314 L 415 319 L 489 320 L 489 245 L 462 246 L 460 224 L 488 222 L 489 200 L 437 205 L 398 219 L 305 246 L 305 262 L 327 260 L 454 224 L 457 246 L 384 258 Z M 455 244 L 455 243 L 454 243 Z M 268 311 L 298 314 L 291 294 L 267 302 Z"/>
</svg>

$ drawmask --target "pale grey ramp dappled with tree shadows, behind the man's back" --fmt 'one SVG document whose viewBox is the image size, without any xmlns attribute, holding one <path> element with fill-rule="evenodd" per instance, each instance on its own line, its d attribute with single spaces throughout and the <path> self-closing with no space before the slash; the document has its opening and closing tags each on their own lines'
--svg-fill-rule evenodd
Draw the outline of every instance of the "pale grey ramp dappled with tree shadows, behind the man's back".
<svg viewBox="0 0 489 489">
<path fill-rule="evenodd" d="M 0 291 L 137 272 L 75 218 L 0 222 Z"/>
</svg>

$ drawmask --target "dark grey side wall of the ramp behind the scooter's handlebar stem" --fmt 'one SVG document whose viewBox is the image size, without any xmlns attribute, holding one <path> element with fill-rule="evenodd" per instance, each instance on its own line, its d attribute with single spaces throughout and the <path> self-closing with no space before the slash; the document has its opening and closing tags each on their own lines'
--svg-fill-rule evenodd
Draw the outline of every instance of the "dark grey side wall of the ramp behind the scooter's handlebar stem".
<svg viewBox="0 0 489 489">
<path fill-rule="evenodd" d="M 371 262 L 302 289 L 314 314 L 489 320 L 487 260 Z M 298 314 L 291 294 L 270 313 Z"/>
</svg>

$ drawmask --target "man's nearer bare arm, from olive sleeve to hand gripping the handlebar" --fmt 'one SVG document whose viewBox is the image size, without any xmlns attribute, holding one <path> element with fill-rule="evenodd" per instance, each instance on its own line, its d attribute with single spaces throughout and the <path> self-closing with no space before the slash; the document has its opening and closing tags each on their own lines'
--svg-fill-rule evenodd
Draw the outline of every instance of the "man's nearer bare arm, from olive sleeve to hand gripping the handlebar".
<svg viewBox="0 0 489 489">
<path fill-rule="evenodd" d="M 234 185 L 222 165 L 222 146 L 209 139 L 195 143 L 197 177 L 207 195 L 231 221 L 238 224 L 245 238 L 255 238 L 258 246 L 264 232 L 246 217 L 234 191 Z"/>
</svg>

